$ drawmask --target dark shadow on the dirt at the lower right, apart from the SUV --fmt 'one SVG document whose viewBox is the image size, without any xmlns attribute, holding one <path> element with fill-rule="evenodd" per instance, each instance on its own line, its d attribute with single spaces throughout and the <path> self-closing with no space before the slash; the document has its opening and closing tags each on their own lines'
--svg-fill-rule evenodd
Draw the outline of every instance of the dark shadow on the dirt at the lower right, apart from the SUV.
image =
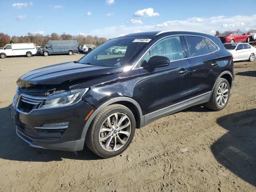
<svg viewBox="0 0 256 192">
<path fill-rule="evenodd" d="M 215 158 L 244 181 L 256 186 L 256 109 L 220 117 L 217 123 L 228 133 L 211 146 Z"/>
</svg>

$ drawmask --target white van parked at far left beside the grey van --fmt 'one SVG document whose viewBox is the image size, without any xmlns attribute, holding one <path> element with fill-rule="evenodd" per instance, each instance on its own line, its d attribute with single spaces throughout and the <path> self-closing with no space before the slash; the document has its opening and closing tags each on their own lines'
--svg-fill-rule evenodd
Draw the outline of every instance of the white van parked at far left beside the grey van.
<svg viewBox="0 0 256 192">
<path fill-rule="evenodd" d="M 36 45 L 34 43 L 13 43 L 6 44 L 0 49 L 0 58 L 4 59 L 6 56 L 26 55 L 31 57 L 36 54 Z"/>
</svg>

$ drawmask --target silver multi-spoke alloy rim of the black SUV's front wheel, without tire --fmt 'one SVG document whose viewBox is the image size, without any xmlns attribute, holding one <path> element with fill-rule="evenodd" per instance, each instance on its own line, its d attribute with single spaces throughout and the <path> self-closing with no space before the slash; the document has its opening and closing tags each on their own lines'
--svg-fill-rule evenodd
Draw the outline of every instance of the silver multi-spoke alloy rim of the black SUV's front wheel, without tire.
<svg viewBox="0 0 256 192">
<path fill-rule="evenodd" d="M 131 121 L 124 113 L 114 113 L 100 127 L 100 146 L 108 151 L 120 150 L 128 141 L 132 131 Z"/>
</svg>

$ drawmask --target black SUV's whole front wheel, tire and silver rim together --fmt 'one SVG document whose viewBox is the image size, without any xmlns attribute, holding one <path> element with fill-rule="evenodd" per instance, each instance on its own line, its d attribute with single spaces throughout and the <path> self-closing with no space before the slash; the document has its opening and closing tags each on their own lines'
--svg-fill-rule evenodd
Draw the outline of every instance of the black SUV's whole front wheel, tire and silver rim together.
<svg viewBox="0 0 256 192">
<path fill-rule="evenodd" d="M 134 115 L 126 106 L 107 106 L 94 118 L 86 134 L 86 145 L 100 157 L 117 156 L 132 142 L 135 127 Z"/>
</svg>

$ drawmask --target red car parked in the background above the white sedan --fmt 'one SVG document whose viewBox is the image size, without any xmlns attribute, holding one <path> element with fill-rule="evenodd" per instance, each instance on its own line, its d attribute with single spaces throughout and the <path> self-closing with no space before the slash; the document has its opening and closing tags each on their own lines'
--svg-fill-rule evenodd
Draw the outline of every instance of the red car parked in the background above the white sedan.
<svg viewBox="0 0 256 192">
<path fill-rule="evenodd" d="M 240 31 L 224 32 L 218 36 L 222 43 L 234 43 L 234 42 L 249 42 L 250 34 L 245 34 Z"/>
</svg>

